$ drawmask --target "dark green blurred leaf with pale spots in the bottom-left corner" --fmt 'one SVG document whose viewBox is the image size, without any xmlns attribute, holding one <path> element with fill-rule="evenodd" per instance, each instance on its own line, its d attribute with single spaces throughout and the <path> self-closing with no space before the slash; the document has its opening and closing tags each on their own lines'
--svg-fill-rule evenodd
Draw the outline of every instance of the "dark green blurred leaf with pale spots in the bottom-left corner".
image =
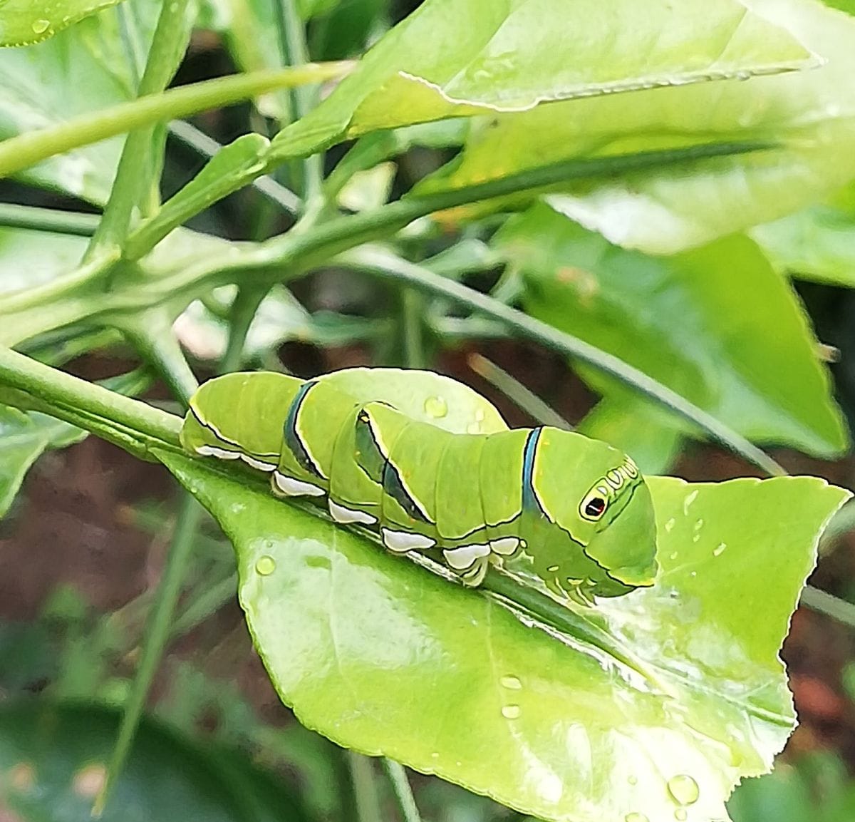
<svg viewBox="0 0 855 822">
<path fill-rule="evenodd" d="M 14 701 L 0 707 L 0 806 L 21 822 L 89 822 L 119 713 L 94 705 Z M 153 819 L 297 822 L 280 781 L 230 748 L 192 744 L 145 720 L 103 822 Z"/>
</svg>

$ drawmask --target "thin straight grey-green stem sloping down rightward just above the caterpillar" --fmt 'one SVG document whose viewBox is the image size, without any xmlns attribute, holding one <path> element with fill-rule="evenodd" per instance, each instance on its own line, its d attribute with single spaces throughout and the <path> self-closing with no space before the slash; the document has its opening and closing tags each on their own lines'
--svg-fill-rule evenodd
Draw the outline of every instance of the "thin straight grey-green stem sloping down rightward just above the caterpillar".
<svg viewBox="0 0 855 822">
<path fill-rule="evenodd" d="M 361 248 L 352 249 L 340 254 L 336 262 L 340 265 L 379 275 L 386 280 L 420 288 L 427 293 L 439 294 L 446 299 L 454 300 L 459 305 L 466 305 L 472 310 L 493 316 L 504 322 L 516 334 L 528 340 L 534 340 L 553 351 L 580 359 L 605 374 L 616 377 L 626 385 L 634 387 L 659 405 L 663 405 L 669 411 L 673 411 L 683 419 L 699 426 L 714 440 L 728 446 L 734 452 L 762 468 L 769 475 L 782 476 L 787 473 L 768 454 L 707 411 L 689 402 L 685 397 L 661 382 L 647 376 L 643 371 L 624 363 L 621 359 L 596 346 L 592 346 L 585 340 L 558 331 L 557 328 L 552 328 L 545 322 L 535 320 L 534 317 L 530 317 L 515 308 L 510 308 L 510 306 L 459 282 L 439 277 L 433 274 L 433 271 L 410 263 L 379 246 L 363 245 Z"/>
</svg>

